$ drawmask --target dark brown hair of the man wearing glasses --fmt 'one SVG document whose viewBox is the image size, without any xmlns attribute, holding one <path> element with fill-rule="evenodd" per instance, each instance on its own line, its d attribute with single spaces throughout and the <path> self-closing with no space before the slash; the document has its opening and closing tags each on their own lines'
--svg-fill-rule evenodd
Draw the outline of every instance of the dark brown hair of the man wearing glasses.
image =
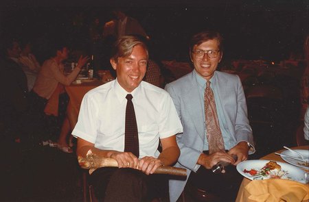
<svg viewBox="0 0 309 202">
<path fill-rule="evenodd" d="M 218 40 L 219 42 L 218 47 L 220 49 L 220 52 L 222 52 L 223 50 L 222 35 L 218 31 L 201 31 L 198 34 L 195 34 L 194 36 L 192 36 L 190 40 L 190 47 L 189 47 L 190 56 L 192 57 L 192 51 L 195 45 L 201 45 L 203 42 L 207 40 L 213 40 L 213 39 Z"/>
</svg>

